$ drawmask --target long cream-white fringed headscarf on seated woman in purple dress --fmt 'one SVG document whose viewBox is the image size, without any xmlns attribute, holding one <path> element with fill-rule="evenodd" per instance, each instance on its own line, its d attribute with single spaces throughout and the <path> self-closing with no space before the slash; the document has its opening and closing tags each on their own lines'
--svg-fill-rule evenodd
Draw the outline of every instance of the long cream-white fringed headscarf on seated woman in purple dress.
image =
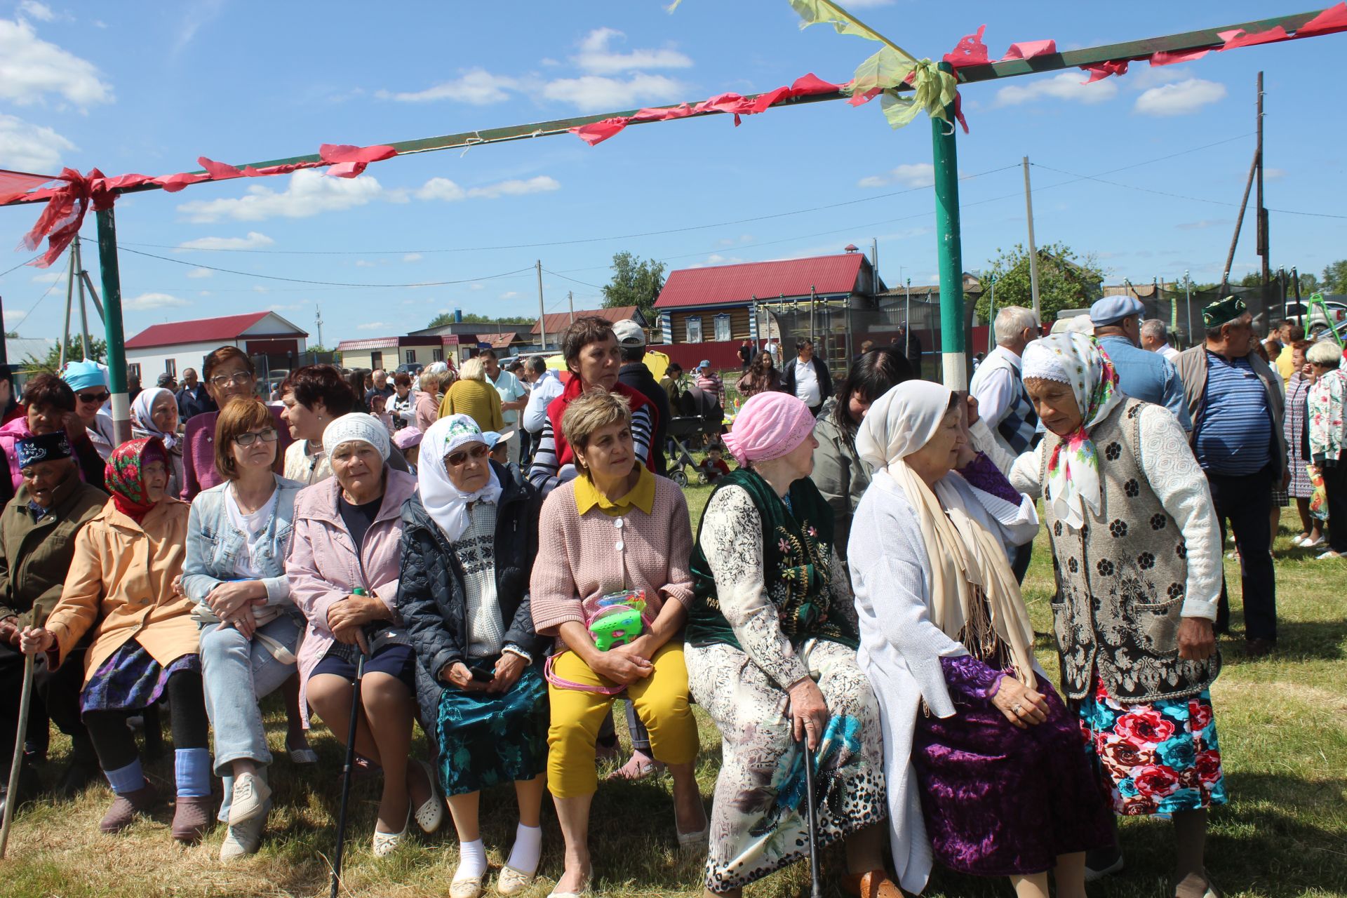
<svg viewBox="0 0 1347 898">
<path fill-rule="evenodd" d="M 1009 649 L 1016 677 L 1033 688 L 1033 627 L 1001 540 L 968 513 L 955 475 L 936 481 L 932 491 L 904 460 L 931 442 L 952 396 L 929 381 L 898 384 L 870 405 L 855 448 L 876 471 L 888 471 L 917 513 L 931 563 L 931 622 L 974 654 L 994 633 Z"/>
</svg>

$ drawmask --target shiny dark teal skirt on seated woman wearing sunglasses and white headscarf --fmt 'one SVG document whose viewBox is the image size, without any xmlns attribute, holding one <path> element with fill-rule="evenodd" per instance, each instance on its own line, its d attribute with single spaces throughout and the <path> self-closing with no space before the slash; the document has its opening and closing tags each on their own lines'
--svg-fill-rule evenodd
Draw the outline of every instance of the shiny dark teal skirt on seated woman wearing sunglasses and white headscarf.
<svg viewBox="0 0 1347 898">
<path fill-rule="evenodd" d="M 485 661 L 484 661 L 485 662 Z M 547 770 L 547 683 L 527 668 L 504 695 L 447 688 L 439 696 L 439 785 L 446 796 L 480 792 Z"/>
</svg>

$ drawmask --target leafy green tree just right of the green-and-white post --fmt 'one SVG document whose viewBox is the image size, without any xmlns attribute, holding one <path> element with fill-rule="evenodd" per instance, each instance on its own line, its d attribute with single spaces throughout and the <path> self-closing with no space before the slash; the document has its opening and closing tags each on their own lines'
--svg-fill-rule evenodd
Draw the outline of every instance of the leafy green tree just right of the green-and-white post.
<svg viewBox="0 0 1347 898">
<path fill-rule="evenodd" d="M 982 276 L 982 296 L 977 315 L 987 320 L 991 304 L 990 279 L 995 277 L 997 308 L 1024 306 L 1033 308 L 1033 289 L 1029 277 L 1029 250 L 1016 244 L 1009 250 L 997 248 L 997 257 L 987 263 Z M 1039 310 L 1043 320 L 1056 319 L 1063 308 L 1084 308 L 1099 299 L 1103 272 L 1094 253 L 1078 256 L 1065 244 L 1039 248 Z"/>
</svg>

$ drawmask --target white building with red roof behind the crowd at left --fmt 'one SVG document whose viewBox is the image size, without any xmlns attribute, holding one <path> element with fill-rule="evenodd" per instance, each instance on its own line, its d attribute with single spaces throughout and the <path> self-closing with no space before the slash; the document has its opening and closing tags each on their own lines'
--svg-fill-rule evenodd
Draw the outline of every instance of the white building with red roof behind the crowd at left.
<svg viewBox="0 0 1347 898">
<path fill-rule="evenodd" d="M 206 355 L 221 346 L 264 355 L 268 368 L 291 368 L 292 359 L 307 350 L 307 339 L 306 331 L 276 312 L 151 324 L 127 341 L 127 373 L 139 377 L 145 386 L 152 386 L 164 373 L 180 380 L 189 368 L 201 377 Z"/>
</svg>

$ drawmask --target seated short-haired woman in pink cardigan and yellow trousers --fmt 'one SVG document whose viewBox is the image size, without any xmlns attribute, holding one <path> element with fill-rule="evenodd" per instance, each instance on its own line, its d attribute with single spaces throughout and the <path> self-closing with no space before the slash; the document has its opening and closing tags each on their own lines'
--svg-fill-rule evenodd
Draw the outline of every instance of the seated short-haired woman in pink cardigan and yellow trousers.
<svg viewBox="0 0 1347 898">
<path fill-rule="evenodd" d="M 674 777 L 679 843 L 695 851 L 706 840 L 692 773 L 696 722 L 678 638 L 692 600 L 687 502 L 672 481 L 638 463 L 625 397 L 606 390 L 575 397 L 560 429 L 579 475 L 543 505 L 539 532 L 547 539 L 539 541 L 531 582 L 533 626 L 559 637 L 562 649 L 547 677 L 547 785 L 566 837 L 556 898 L 589 887 L 594 746 L 621 692 L 649 730 L 653 757 Z"/>
</svg>

